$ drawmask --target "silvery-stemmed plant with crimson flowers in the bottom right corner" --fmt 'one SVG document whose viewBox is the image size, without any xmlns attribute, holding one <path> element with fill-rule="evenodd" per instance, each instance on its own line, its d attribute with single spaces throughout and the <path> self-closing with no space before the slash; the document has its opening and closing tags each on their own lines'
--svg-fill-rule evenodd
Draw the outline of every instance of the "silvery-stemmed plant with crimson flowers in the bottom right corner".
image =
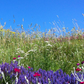
<svg viewBox="0 0 84 84">
<path fill-rule="evenodd" d="M 77 69 L 76 69 L 76 71 L 79 71 L 80 74 L 82 73 L 81 79 L 79 79 L 79 77 L 78 77 L 77 74 L 75 73 L 75 67 L 73 67 L 73 68 L 74 68 L 74 73 L 73 73 L 73 71 L 72 71 L 72 74 L 73 74 L 73 76 L 76 78 L 76 80 L 80 82 L 80 84 L 84 84 L 84 79 L 83 79 L 84 61 L 82 61 L 81 64 L 82 64 L 82 67 L 79 66 L 79 65 L 80 65 L 79 63 L 77 63 Z"/>
</svg>

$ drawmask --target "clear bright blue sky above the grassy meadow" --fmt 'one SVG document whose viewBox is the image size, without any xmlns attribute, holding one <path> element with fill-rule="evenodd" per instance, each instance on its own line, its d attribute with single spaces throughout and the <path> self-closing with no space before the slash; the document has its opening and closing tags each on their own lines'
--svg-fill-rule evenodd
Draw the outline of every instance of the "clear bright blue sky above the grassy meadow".
<svg viewBox="0 0 84 84">
<path fill-rule="evenodd" d="M 73 27 L 78 30 L 78 26 L 84 29 L 83 14 L 84 0 L 0 0 L 0 23 L 3 26 L 6 22 L 4 29 L 11 26 L 20 32 L 19 24 L 23 25 L 24 31 L 31 31 L 35 24 L 34 31 L 40 27 L 40 32 L 46 29 L 48 32 L 51 28 L 62 30 L 63 27 L 68 28 L 66 32 Z"/>
</svg>

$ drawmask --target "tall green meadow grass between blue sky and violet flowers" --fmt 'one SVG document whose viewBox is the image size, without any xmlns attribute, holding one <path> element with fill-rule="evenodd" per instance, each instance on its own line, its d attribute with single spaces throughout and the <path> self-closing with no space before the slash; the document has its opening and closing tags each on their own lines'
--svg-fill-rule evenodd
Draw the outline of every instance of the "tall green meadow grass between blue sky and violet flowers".
<svg viewBox="0 0 84 84">
<path fill-rule="evenodd" d="M 4 36 L 3 32 L 5 32 Z M 35 35 L 32 33 L 25 38 L 24 33 L 18 34 L 18 32 L 0 29 L 0 64 L 2 62 L 10 63 L 14 57 L 17 58 L 20 55 L 24 57 L 21 63 L 24 64 L 25 68 L 30 66 L 34 70 L 41 68 L 46 71 L 56 71 L 61 68 L 63 72 L 70 75 L 73 67 L 77 67 L 77 63 L 84 61 L 83 34 L 72 33 L 74 38 L 70 35 L 53 38 L 54 34 L 53 36 L 48 34 L 45 37 L 42 33 L 41 38 L 38 33 Z M 34 36 L 36 37 L 33 38 Z M 77 36 L 78 38 L 76 38 Z M 72 38 L 72 40 L 69 38 Z M 45 42 L 47 40 L 51 46 L 47 46 L 48 43 Z M 17 50 L 18 48 L 20 50 Z M 28 52 L 31 49 L 34 51 Z"/>
</svg>

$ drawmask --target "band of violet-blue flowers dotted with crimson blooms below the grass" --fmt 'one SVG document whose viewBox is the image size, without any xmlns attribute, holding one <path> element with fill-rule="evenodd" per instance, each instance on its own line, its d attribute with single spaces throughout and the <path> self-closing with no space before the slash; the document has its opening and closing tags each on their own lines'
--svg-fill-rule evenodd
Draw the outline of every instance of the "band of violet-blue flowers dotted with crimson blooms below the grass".
<svg viewBox="0 0 84 84">
<path fill-rule="evenodd" d="M 11 61 L 10 64 L 2 63 L 0 69 L 0 84 L 76 84 L 73 74 L 69 76 L 63 73 L 61 69 L 56 72 L 42 69 L 33 71 L 30 66 L 28 66 L 28 69 L 18 66 L 18 61 L 14 61 L 14 63 Z"/>
</svg>

